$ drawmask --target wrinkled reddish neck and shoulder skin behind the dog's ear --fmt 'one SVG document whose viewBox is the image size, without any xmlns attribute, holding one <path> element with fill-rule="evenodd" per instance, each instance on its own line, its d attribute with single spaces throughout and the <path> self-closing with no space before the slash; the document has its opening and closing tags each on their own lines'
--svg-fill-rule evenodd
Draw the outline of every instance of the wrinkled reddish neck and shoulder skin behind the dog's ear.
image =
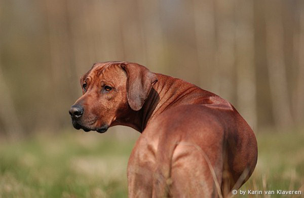
<svg viewBox="0 0 304 198">
<path fill-rule="evenodd" d="M 111 126 L 128 126 L 142 133 L 149 123 L 168 108 L 182 104 L 210 104 L 210 98 L 217 97 L 178 78 L 159 73 L 156 75 L 158 82 L 154 84 L 142 108 L 134 111 L 129 107 L 126 116 L 117 118 Z"/>
</svg>

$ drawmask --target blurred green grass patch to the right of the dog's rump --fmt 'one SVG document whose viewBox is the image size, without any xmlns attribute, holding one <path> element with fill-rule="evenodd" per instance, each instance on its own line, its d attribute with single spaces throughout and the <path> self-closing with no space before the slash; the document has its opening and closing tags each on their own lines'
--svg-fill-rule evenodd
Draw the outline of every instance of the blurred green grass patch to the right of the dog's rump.
<svg viewBox="0 0 304 198">
<path fill-rule="evenodd" d="M 257 166 L 241 190 L 274 190 L 275 194 L 244 196 L 238 191 L 235 197 L 304 197 L 304 132 L 260 132 L 257 141 Z M 277 194 L 279 189 L 301 190 L 302 194 Z"/>
</svg>

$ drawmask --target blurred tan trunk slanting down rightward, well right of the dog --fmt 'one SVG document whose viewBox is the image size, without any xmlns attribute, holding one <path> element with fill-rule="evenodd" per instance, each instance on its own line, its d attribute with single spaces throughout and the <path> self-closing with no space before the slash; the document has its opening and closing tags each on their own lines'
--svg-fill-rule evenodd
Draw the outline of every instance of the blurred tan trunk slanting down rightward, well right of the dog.
<svg viewBox="0 0 304 198">
<path fill-rule="evenodd" d="M 292 124 L 284 60 L 282 2 L 265 1 L 266 48 L 269 82 L 276 126 Z"/>
</svg>

